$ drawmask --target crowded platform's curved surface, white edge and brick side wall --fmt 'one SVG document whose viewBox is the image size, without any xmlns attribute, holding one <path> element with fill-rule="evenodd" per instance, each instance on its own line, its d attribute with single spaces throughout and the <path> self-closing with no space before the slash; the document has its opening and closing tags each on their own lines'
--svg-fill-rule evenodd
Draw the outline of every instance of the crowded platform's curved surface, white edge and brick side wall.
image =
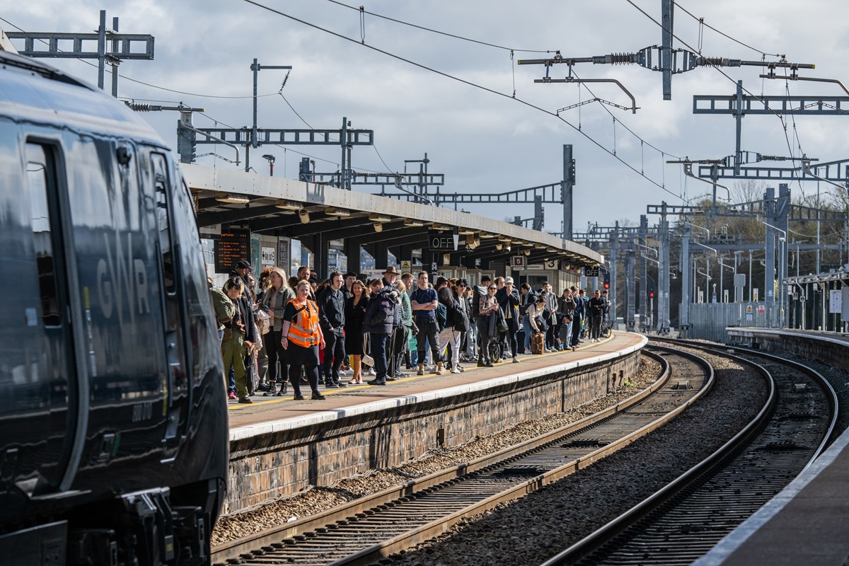
<svg viewBox="0 0 849 566">
<path fill-rule="evenodd" d="M 632 376 L 647 339 L 614 333 L 576 351 L 520 356 L 464 373 L 322 389 L 323 401 L 255 396 L 229 406 L 224 513 L 387 468 L 607 395 Z"/>
</svg>

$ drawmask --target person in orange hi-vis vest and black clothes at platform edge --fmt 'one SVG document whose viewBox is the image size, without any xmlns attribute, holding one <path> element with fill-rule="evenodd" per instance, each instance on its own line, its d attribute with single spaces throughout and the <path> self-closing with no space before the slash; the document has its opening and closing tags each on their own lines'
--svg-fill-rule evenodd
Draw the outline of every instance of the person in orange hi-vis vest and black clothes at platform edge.
<svg viewBox="0 0 849 566">
<path fill-rule="evenodd" d="M 295 389 L 296 401 L 304 398 L 301 395 L 301 368 L 312 389 L 312 399 L 324 398 L 318 391 L 318 348 L 324 347 L 324 335 L 318 324 L 318 305 L 308 298 L 311 290 L 309 281 L 300 281 L 295 289 L 295 299 L 289 301 L 283 313 L 280 345 L 286 350 L 286 361 L 290 364 L 289 380 L 292 389 Z"/>
</svg>

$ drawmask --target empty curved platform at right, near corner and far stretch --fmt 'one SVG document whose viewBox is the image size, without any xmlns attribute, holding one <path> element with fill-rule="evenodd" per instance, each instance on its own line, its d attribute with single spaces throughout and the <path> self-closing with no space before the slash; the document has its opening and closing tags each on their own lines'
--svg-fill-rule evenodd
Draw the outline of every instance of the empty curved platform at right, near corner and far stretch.
<svg viewBox="0 0 849 566">
<path fill-rule="evenodd" d="M 849 368 L 849 337 L 835 333 L 728 328 L 734 344 Z M 834 565 L 849 562 L 849 430 L 779 495 L 732 531 L 698 566 Z"/>
</svg>

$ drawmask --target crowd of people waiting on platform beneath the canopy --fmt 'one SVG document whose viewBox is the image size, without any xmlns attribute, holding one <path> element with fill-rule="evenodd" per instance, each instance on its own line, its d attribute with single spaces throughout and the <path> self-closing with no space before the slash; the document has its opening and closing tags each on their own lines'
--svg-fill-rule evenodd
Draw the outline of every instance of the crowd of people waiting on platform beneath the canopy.
<svg viewBox="0 0 849 566">
<path fill-rule="evenodd" d="M 229 398 L 250 395 L 323 399 L 318 389 L 348 384 L 385 385 L 397 378 L 463 373 L 463 363 L 492 367 L 520 354 L 575 350 L 599 339 L 610 301 L 571 286 L 559 296 L 549 283 L 516 287 L 513 277 L 481 276 L 480 285 L 429 272 L 361 280 L 334 271 L 319 282 L 301 266 L 286 278 L 265 267 L 256 281 L 248 261 L 210 293 L 218 321 Z M 522 336 L 524 334 L 524 336 Z M 374 378 L 363 382 L 363 374 Z M 343 377 L 349 377 L 347 382 Z"/>
</svg>

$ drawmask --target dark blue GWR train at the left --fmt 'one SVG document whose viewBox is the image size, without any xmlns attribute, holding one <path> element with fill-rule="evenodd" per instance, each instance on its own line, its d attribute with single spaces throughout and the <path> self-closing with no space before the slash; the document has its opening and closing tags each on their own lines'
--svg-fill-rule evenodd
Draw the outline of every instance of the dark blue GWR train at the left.
<svg viewBox="0 0 849 566">
<path fill-rule="evenodd" d="M 0 51 L 0 563 L 210 563 L 228 471 L 194 202 L 115 98 Z"/>
</svg>

